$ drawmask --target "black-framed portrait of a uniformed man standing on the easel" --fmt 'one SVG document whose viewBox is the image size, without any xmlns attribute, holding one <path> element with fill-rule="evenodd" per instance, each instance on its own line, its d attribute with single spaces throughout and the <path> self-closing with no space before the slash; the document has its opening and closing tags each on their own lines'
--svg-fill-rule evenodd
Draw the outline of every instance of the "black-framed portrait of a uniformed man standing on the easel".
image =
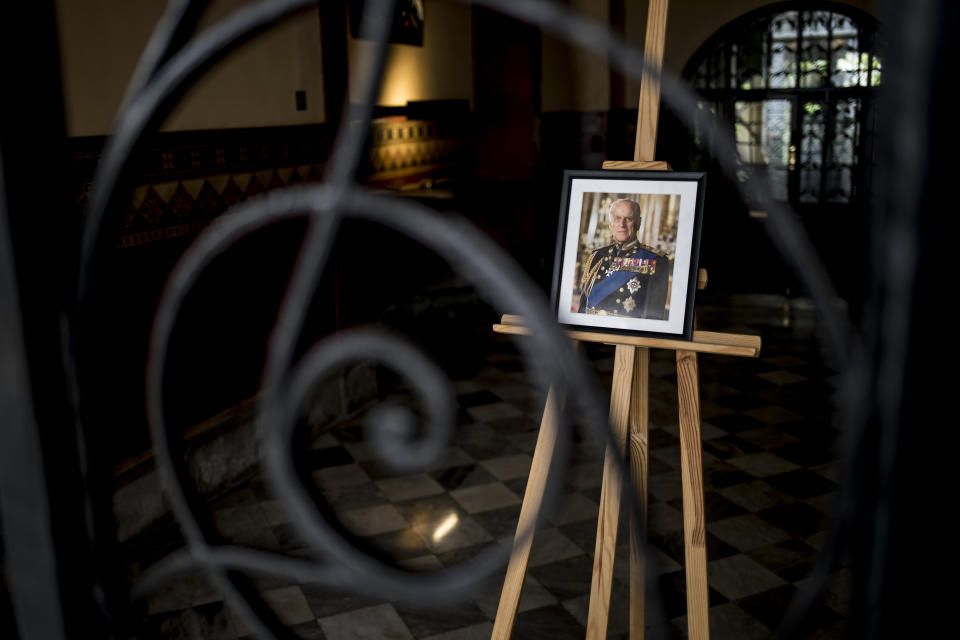
<svg viewBox="0 0 960 640">
<path fill-rule="evenodd" d="M 705 183 L 704 173 L 564 172 L 557 321 L 689 340 Z"/>
</svg>

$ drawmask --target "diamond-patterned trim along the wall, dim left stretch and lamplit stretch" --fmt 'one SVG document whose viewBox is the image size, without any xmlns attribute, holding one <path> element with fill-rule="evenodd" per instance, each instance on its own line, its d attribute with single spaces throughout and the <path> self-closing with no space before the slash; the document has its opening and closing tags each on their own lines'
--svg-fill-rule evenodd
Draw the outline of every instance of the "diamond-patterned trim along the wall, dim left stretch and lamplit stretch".
<svg viewBox="0 0 960 640">
<path fill-rule="evenodd" d="M 443 182 L 472 167 L 472 141 L 460 125 L 403 117 L 374 121 L 362 180 L 403 187 Z M 88 192 L 104 137 L 69 141 L 77 204 Z M 198 233 L 259 193 L 321 179 L 330 148 L 325 125 L 157 134 L 127 203 L 116 246 L 131 248 Z"/>
</svg>

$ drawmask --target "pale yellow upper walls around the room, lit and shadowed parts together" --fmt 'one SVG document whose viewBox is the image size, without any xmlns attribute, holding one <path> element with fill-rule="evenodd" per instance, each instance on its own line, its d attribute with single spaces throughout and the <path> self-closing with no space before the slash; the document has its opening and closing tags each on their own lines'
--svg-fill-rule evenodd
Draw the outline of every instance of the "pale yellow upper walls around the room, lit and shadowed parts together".
<svg viewBox="0 0 960 640">
<path fill-rule="evenodd" d="M 559 0 L 600 24 L 609 24 L 608 0 Z M 208 25 L 245 0 L 214 0 Z M 667 20 L 665 65 L 677 73 L 719 28 L 764 0 L 674 0 Z M 870 0 L 846 4 L 869 11 Z M 111 123 L 165 0 L 57 0 L 67 131 L 72 136 L 110 131 Z M 391 45 L 378 103 L 466 99 L 473 104 L 471 8 L 427 0 L 422 47 Z M 625 0 L 623 31 L 642 48 L 647 3 Z M 202 28 L 202 27 L 201 27 Z M 344 25 L 346 29 L 346 25 Z M 496 38 L 496 34 L 484 37 Z M 605 111 L 633 108 L 639 83 L 628 80 L 624 104 L 610 104 L 606 59 L 544 34 L 542 110 Z M 358 73 L 372 43 L 348 36 L 350 98 L 360 99 Z M 203 77 L 164 130 L 265 127 L 323 122 L 322 60 L 317 10 L 299 14 L 244 45 Z M 307 110 L 296 111 L 294 92 L 307 92 Z M 336 105 L 334 108 L 339 108 Z"/>
</svg>

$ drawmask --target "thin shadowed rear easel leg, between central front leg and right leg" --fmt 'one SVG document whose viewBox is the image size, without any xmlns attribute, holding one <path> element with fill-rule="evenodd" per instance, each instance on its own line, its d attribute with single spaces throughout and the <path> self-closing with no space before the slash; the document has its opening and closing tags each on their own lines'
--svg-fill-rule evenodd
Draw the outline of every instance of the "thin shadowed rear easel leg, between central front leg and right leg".
<svg viewBox="0 0 960 640">
<path fill-rule="evenodd" d="M 631 516 L 630 528 L 630 638 L 643 638 L 644 564 L 643 549 L 637 542 L 645 531 L 647 510 L 647 451 L 650 419 L 650 349 L 638 347 L 633 366 L 633 393 L 630 396 L 630 477 L 633 495 L 640 510 L 639 521 Z"/>
</svg>

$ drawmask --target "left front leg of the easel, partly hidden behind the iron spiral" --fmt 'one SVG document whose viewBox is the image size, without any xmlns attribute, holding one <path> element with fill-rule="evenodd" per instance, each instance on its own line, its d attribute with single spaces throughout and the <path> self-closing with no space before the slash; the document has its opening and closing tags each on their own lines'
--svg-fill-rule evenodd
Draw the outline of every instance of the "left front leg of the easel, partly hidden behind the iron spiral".
<svg viewBox="0 0 960 640">
<path fill-rule="evenodd" d="M 559 401 L 555 389 L 550 387 L 547 393 L 547 406 L 543 411 L 543 420 L 540 422 L 537 446 L 530 463 L 527 489 L 523 493 L 523 504 L 520 507 L 520 519 L 517 523 L 518 532 L 531 530 L 531 527 L 537 525 L 537 516 L 540 514 L 540 506 L 547 488 L 547 473 L 550 470 L 553 450 L 557 442 Z M 533 536 L 529 536 L 526 540 L 514 538 L 513 551 L 510 554 L 510 563 L 507 565 L 503 591 L 500 592 L 500 604 L 497 606 L 497 619 L 493 623 L 491 640 L 508 640 L 513 633 L 513 624 L 517 618 L 517 607 L 520 606 L 520 592 L 527 575 L 532 545 Z"/>
</svg>

